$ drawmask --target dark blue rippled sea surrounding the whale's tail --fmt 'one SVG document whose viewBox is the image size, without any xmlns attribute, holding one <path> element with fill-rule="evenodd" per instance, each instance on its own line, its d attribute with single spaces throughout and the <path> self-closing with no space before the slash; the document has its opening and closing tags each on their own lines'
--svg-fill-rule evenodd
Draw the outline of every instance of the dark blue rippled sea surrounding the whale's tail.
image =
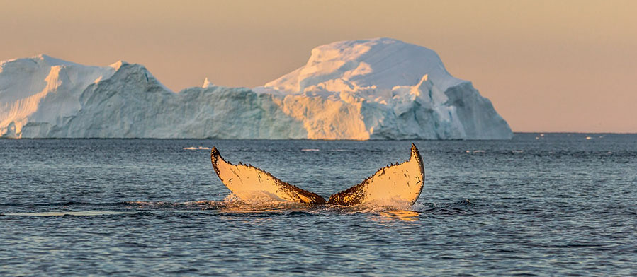
<svg viewBox="0 0 637 277">
<path fill-rule="evenodd" d="M 536 136 L 0 140 L 0 276 L 637 274 L 637 136 Z M 412 142 L 427 172 L 413 211 L 224 202 L 209 150 L 184 150 L 327 197 Z"/>
</svg>

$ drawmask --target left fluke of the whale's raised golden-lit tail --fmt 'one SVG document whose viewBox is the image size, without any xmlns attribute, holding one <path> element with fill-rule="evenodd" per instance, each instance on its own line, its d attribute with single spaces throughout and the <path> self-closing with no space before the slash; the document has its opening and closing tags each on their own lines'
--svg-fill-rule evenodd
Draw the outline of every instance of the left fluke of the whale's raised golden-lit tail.
<svg viewBox="0 0 637 277">
<path fill-rule="evenodd" d="M 210 160 L 221 182 L 240 199 L 250 199 L 256 194 L 299 203 L 327 203 L 322 196 L 283 182 L 257 167 L 226 162 L 216 147 L 210 151 Z"/>
</svg>

